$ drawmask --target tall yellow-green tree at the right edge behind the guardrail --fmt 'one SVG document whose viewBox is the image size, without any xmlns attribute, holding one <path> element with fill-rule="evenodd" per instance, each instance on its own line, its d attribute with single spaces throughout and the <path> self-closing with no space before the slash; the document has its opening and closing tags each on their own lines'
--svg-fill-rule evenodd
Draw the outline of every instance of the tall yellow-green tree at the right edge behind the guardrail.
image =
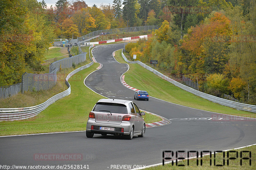
<svg viewBox="0 0 256 170">
<path fill-rule="evenodd" d="M 256 3 L 250 1 L 248 12 L 244 13 L 244 6 L 236 6 L 232 10 L 226 11 L 231 19 L 233 32 L 230 45 L 229 67 L 225 70 L 230 76 L 230 86 L 234 96 L 238 96 L 241 100 L 249 104 L 256 104 Z M 236 74 L 234 73 L 234 68 Z M 237 73 L 238 72 L 238 73 Z M 240 80 L 241 79 L 241 80 Z M 241 84 L 239 81 L 246 83 L 243 90 L 234 88 L 234 84 Z M 232 85 L 233 84 L 233 85 Z"/>
</svg>

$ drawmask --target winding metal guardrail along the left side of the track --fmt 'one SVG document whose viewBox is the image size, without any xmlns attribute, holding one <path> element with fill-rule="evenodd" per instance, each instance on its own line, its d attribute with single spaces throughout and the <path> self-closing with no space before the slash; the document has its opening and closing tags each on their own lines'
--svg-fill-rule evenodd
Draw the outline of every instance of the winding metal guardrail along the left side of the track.
<svg viewBox="0 0 256 170">
<path fill-rule="evenodd" d="M 62 97 L 68 96 L 71 92 L 70 84 L 68 83 L 68 79 L 75 73 L 92 66 L 92 64 L 93 64 L 93 62 L 91 62 L 90 64 L 87 64 L 83 67 L 77 68 L 76 70 L 69 73 L 65 80 L 66 85 L 68 86 L 68 89 L 51 97 L 50 99 L 48 99 L 46 102 L 44 102 L 42 104 L 39 104 L 37 106 L 32 106 L 32 107 L 26 107 L 26 108 L 0 109 L 0 121 L 22 120 L 22 119 L 27 119 L 27 118 L 36 116 L 41 111 L 46 109 L 50 104 L 61 99 Z"/>
</svg>

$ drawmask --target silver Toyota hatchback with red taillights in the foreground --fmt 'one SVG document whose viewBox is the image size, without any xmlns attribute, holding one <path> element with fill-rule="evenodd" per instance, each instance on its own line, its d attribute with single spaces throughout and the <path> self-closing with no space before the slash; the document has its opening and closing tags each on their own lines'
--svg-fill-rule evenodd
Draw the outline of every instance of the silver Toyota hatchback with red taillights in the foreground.
<svg viewBox="0 0 256 170">
<path fill-rule="evenodd" d="M 143 137 L 146 125 L 142 115 L 145 112 L 140 112 L 132 101 L 100 99 L 89 113 L 86 137 L 92 138 L 94 134 L 124 135 L 127 139 Z"/>
</svg>

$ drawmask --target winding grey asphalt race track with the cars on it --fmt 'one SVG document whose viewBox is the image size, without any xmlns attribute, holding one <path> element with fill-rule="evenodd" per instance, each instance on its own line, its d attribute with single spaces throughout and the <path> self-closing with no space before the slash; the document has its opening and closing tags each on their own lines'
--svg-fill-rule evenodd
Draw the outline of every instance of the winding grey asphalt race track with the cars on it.
<svg viewBox="0 0 256 170">
<path fill-rule="evenodd" d="M 85 79 L 85 84 L 108 98 L 134 100 L 134 91 L 124 87 L 120 81 L 128 65 L 116 62 L 112 56 L 113 51 L 123 47 L 124 44 L 115 44 L 93 48 L 95 60 L 103 67 L 90 74 Z M 149 101 L 134 102 L 140 109 L 170 119 L 171 123 L 146 128 L 144 138 L 134 137 L 132 140 L 98 134 L 93 138 L 86 138 L 85 132 L 1 137 L 0 164 L 59 165 L 59 169 L 63 165 L 66 168 L 67 165 L 81 165 L 83 169 L 86 167 L 92 170 L 132 169 L 161 163 L 164 150 L 213 152 L 256 143 L 256 121 L 236 116 L 231 120 L 230 116 L 152 97 Z M 53 159 L 56 155 L 63 156 L 64 159 Z M 39 160 L 40 158 L 42 159 Z"/>
</svg>

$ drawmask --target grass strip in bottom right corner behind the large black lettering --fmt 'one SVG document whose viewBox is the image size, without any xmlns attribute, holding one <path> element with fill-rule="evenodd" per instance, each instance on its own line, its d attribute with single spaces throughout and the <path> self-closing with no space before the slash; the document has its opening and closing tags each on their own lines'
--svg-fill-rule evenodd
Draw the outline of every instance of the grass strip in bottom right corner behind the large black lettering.
<svg viewBox="0 0 256 170">
<path fill-rule="evenodd" d="M 169 169 L 181 169 L 181 170 L 187 170 L 187 169 L 199 169 L 199 170 L 208 170 L 208 169 L 256 169 L 256 145 L 253 146 L 249 146 L 246 148 L 242 148 L 242 149 L 237 149 L 237 150 L 232 150 L 232 151 L 236 151 L 238 152 L 238 158 L 236 159 L 229 159 L 229 165 L 227 165 L 227 153 L 228 151 L 225 152 L 225 165 L 224 166 L 214 166 L 214 155 L 212 155 L 212 158 L 210 158 L 210 155 L 204 156 L 202 158 L 202 166 L 200 164 L 200 153 L 199 153 L 199 158 L 198 158 L 198 163 L 199 165 L 196 165 L 196 160 L 197 159 L 189 159 L 189 165 L 188 165 L 188 160 L 181 160 L 177 162 L 177 165 L 184 165 L 184 166 L 177 166 L 176 163 L 172 164 L 164 164 L 164 166 L 155 166 L 155 167 L 150 167 L 150 168 L 146 168 L 146 170 L 169 170 Z M 251 151 L 252 155 L 251 155 L 251 166 L 250 166 L 250 160 L 242 160 L 242 166 L 240 164 L 240 160 L 241 160 L 241 156 L 240 153 L 241 151 Z M 229 152 L 229 157 L 236 157 L 236 152 L 232 153 Z M 249 153 L 244 153 L 242 152 L 242 157 L 245 158 L 250 158 Z M 210 166 L 210 160 L 212 160 L 212 166 Z M 217 153 L 216 154 L 216 159 L 215 159 L 215 165 L 223 165 L 223 153 Z"/>
</svg>

